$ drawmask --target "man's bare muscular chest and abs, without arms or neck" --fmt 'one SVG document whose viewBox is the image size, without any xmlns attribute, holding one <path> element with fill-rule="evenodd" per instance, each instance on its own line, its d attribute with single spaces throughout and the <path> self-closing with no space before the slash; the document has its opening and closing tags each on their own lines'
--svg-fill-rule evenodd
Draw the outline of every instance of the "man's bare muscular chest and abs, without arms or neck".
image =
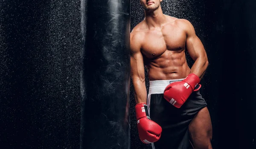
<svg viewBox="0 0 256 149">
<path fill-rule="evenodd" d="M 141 53 L 148 78 L 153 80 L 182 79 L 190 73 L 186 62 L 186 32 L 170 18 L 162 28 L 141 30 Z"/>
</svg>

